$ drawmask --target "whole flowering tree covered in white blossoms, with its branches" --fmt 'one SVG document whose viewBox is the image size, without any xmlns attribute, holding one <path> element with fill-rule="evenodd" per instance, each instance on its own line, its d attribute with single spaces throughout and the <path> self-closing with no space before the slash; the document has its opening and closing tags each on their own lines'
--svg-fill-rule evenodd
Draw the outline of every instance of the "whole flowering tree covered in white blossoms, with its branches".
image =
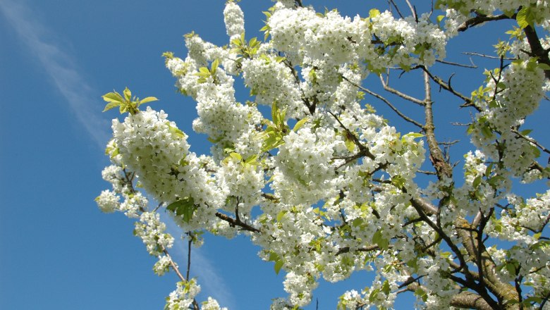
<svg viewBox="0 0 550 310">
<path fill-rule="evenodd" d="M 446 12 L 441 26 L 416 12 L 401 18 L 373 9 L 349 18 L 277 1 L 260 42 L 246 37 L 243 11 L 227 1 L 226 46 L 192 33 L 185 36 L 185 58 L 164 54 L 178 90 L 197 103 L 193 130 L 207 135 L 211 156 L 191 152 L 187 135 L 163 111 L 147 108 L 114 120 L 107 147 L 113 165 L 103 173 L 113 190 L 99 195 L 99 208 L 139 218 L 135 234 L 159 257 L 159 275 L 177 266 L 164 251 L 173 238 L 158 214 L 147 211 L 135 181 L 187 231 L 249 236 L 260 258 L 285 273 L 288 297 L 274 299 L 271 309 L 306 306 L 320 279 L 337 282 L 357 271 L 376 275 L 363 290 L 345 292 L 339 309 L 389 309 L 405 291 L 426 309 L 474 307 L 471 300 L 487 308 L 495 306 L 493 297 L 497 306 L 543 306 L 550 296 L 550 192 L 524 199 L 513 194 L 511 180 L 550 176 L 538 162 L 542 147 L 520 128 L 546 87 L 546 69 L 525 52 L 527 38 L 518 35 L 503 47 L 518 61 L 487 71 L 472 93 L 477 114 L 468 133 L 477 149 L 464 156 L 463 181 L 453 178 L 434 142 L 431 97 L 415 101 L 426 123 L 416 124 L 422 133 L 408 134 L 361 101 L 369 73 L 422 68 L 429 78 L 448 40 L 476 14 L 528 6 L 536 11 L 534 23 L 542 23 L 546 1 L 437 6 Z M 244 104 L 236 99 L 240 78 L 250 89 Z M 259 105 L 271 109 L 271 118 Z M 427 149 L 435 172 L 424 171 Z M 422 188 L 418 173 L 436 176 Z M 513 245 L 488 246 L 486 237 Z M 517 292 L 514 281 L 529 288 Z M 199 290 L 193 279 L 178 283 L 166 309 L 220 309 L 214 299 L 198 304 Z"/>
</svg>

